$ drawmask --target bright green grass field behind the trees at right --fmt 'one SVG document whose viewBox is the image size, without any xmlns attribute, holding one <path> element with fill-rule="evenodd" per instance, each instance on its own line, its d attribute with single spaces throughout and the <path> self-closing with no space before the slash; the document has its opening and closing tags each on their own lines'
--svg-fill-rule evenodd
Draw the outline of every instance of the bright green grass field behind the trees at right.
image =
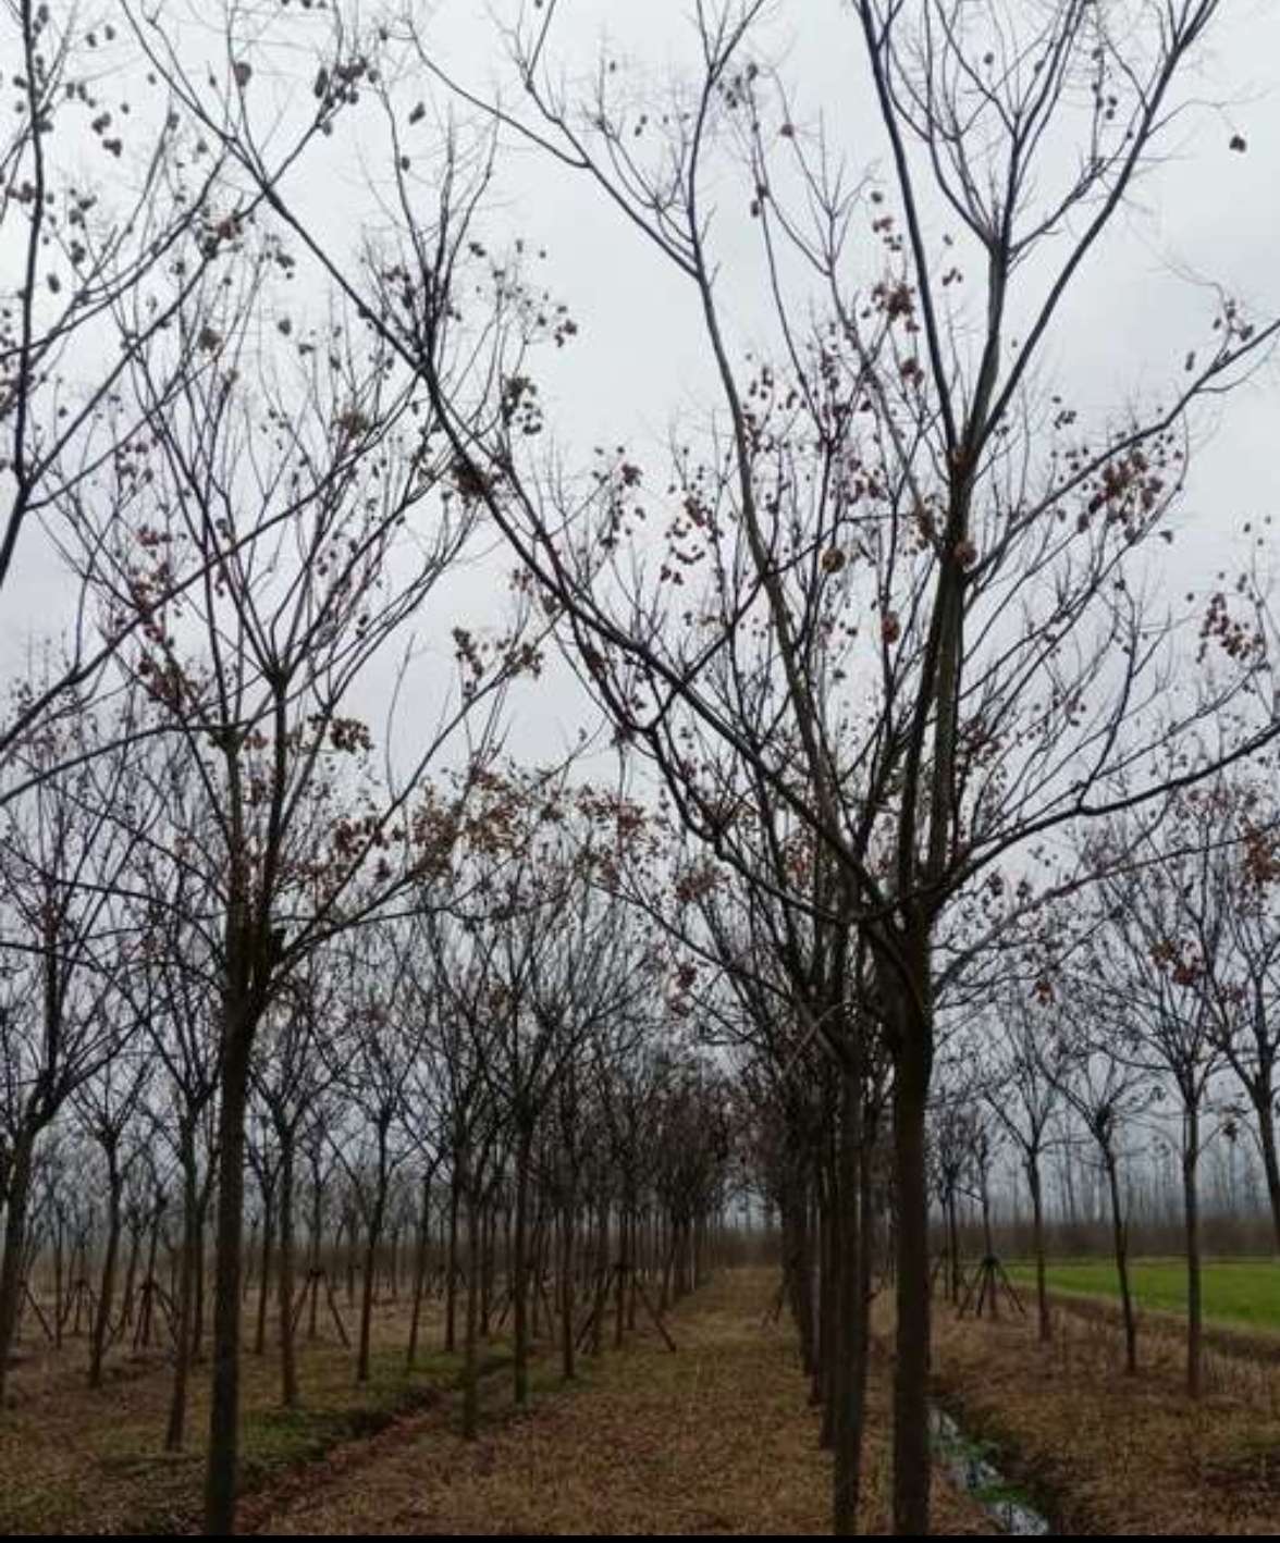
<svg viewBox="0 0 1280 1543">
<path fill-rule="evenodd" d="M 1008 1265 L 1021 1287 L 1034 1285 L 1034 1265 Z M 1135 1259 L 1129 1281 L 1139 1307 L 1181 1313 L 1187 1305 L 1187 1271 L 1181 1259 Z M 1115 1264 L 1104 1259 L 1051 1261 L 1048 1288 L 1078 1296 L 1119 1296 Z M 1204 1318 L 1237 1329 L 1280 1333 L 1280 1262 L 1220 1259 L 1203 1267 Z"/>
</svg>

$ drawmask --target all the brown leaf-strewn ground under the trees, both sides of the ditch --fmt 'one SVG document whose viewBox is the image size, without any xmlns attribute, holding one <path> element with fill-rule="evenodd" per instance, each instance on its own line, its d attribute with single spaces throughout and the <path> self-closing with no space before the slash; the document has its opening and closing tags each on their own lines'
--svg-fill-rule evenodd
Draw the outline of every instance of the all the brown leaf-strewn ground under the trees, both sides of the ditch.
<svg viewBox="0 0 1280 1543">
<path fill-rule="evenodd" d="M 374 1386 L 357 1390 L 347 1352 L 303 1345 L 304 1410 L 275 1409 L 273 1356 L 246 1358 L 246 1454 L 256 1495 L 244 1521 L 264 1532 L 777 1532 L 826 1529 L 829 1458 L 817 1447 L 786 1324 L 763 1325 L 775 1273 L 726 1271 L 670 1318 L 670 1355 L 648 1329 L 584 1362 L 574 1389 L 554 1359 L 534 1364 L 533 1407 L 510 1407 L 510 1375 L 485 1383 L 482 1438 L 455 1433 L 457 1361 L 431 1353 L 400 1373 L 405 1310 L 380 1313 Z M 1181 1342 L 1149 1327 L 1143 1373 L 1121 1375 L 1106 1319 L 1059 1310 L 1041 1349 L 1030 1325 L 956 1322 L 939 1302 L 936 1378 L 1005 1475 L 1048 1501 L 1070 1534 L 1280 1531 L 1280 1367 L 1207 1358 L 1209 1390 L 1181 1390 Z M 440 1342 L 439 1308 L 426 1344 Z M 36 1349 L 28 1339 L 28 1349 Z M 500 1352 L 500 1347 L 494 1347 Z M 199 1515 L 204 1381 L 193 1389 L 188 1454 L 159 1452 L 170 1373 L 162 1358 L 117 1353 L 100 1393 L 83 1387 L 85 1344 L 39 1350 L 0 1415 L 0 1535 L 193 1529 Z M 868 1531 L 885 1526 L 886 1367 L 871 1389 Z M 408 1403 L 428 1407 L 403 1413 Z M 401 1413 L 395 1413 L 401 1410 Z M 394 1416 L 394 1418 L 392 1418 Z M 388 1420 L 391 1424 L 388 1426 Z M 364 1423 L 386 1426 L 354 1440 Z M 936 1531 L 990 1532 L 945 1481 Z"/>
</svg>

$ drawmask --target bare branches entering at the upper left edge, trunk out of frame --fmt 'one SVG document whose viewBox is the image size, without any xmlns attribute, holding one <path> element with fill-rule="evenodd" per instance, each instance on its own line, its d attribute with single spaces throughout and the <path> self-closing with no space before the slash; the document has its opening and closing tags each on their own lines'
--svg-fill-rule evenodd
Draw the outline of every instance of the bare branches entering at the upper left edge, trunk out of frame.
<svg viewBox="0 0 1280 1543">
<path fill-rule="evenodd" d="M 12 599 L 14 579 L 56 552 L 93 565 L 110 529 L 85 485 L 139 432 L 128 373 L 199 293 L 221 252 L 218 221 L 236 224 L 258 196 L 230 198 L 213 218 L 225 160 L 139 68 L 120 17 L 17 0 L 0 15 L 0 54 L 12 71 L 0 136 L 0 588 Z M 110 168 L 107 182 L 91 162 Z M 193 369 L 198 355 L 171 353 L 161 395 Z M 128 636 L 93 628 L 83 586 L 65 620 L 68 653 L 12 701 L 0 751 L 74 711 Z"/>
</svg>

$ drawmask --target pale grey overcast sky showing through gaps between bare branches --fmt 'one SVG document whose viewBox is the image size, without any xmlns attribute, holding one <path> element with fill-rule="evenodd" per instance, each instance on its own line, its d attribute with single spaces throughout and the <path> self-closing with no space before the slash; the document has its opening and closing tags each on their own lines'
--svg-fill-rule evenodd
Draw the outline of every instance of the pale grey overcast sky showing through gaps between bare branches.
<svg viewBox="0 0 1280 1543">
<path fill-rule="evenodd" d="M 1039 0 L 1027 0 L 1033 3 Z M 408 11 L 429 39 L 432 57 L 457 80 L 523 110 L 500 40 L 500 28 L 520 11 L 517 5 L 493 0 L 488 15 L 457 0 L 411 5 Z M 661 103 L 672 82 L 696 76 L 692 11 L 690 0 L 560 0 L 547 45 L 548 66 L 571 91 L 574 80 L 590 79 L 599 57 L 611 57 L 627 73 L 636 99 Z M 278 15 L 261 12 L 269 14 Z M 170 0 L 162 15 L 188 59 L 216 57 L 218 23 L 208 8 L 188 9 Z M 247 25 L 253 12 L 246 8 L 239 15 Z M 273 54 L 273 68 L 255 83 L 258 110 L 266 114 L 284 108 L 286 123 L 290 102 L 310 100 L 309 48 L 327 28 L 320 12 L 304 17 L 295 8 L 293 15 L 290 26 L 296 29 L 289 49 Z M 846 5 L 780 0 L 757 52 L 778 59 L 798 125 L 815 128 L 821 119 L 854 174 L 874 177 L 886 170 Z M 400 89 L 412 91 L 414 82 L 401 82 Z M 1099 421 L 1130 401 L 1160 395 L 1166 383 L 1178 380 L 1187 349 L 1207 335 L 1211 281 L 1238 295 L 1260 316 L 1280 310 L 1280 6 L 1272 0 L 1224 0 L 1187 93 L 1204 105 L 1173 128 L 1164 145 L 1166 162 L 1139 184 L 1133 207 L 1081 275 L 1045 355 L 1045 369 L 1061 376 L 1062 393 L 1098 414 Z M 377 120 L 371 114 L 352 122 L 358 128 L 349 137 L 321 145 L 318 154 L 300 162 L 289 188 L 335 250 L 344 242 L 349 250 L 350 238 L 380 218 L 375 194 L 383 151 Z M 423 133 L 432 122 L 423 125 Z M 1231 148 L 1235 134 L 1248 142 L 1243 154 Z M 716 193 L 712 241 L 723 264 L 735 343 L 767 341 L 757 231 L 746 218 L 743 190 L 726 181 L 716 184 Z M 548 284 L 579 324 L 573 346 L 545 366 L 548 432 L 570 455 L 581 455 L 593 443 L 625 441 L 641 452 L 645 444 L 653 451 L 673 424 L 706 421 L 715 393 L 696 298 L 599 190 L 513 142 L 483 224 L 486 239 L 497 245 L 520 235 L 533 247 L 547 248 Z M 874 276 L 852 275 L 851 284 Z M 318 293 L 318 279 L 309 282 Z M 1198 421 L 1200 443 L 1170 557 L 1169 577 L 1177 588 L 1200 586 L 1218 566 L 1238 562 L 1238 526 L 1280 509 L 1280 458 L 1272 454 L 1277 430 L 1280 372 L 1274 364 L 1217 414 Z M 505 554 L 496 554 L 462 576 L 451 591 L 448 614 L 423 619 L 428 656 L 443 659 L 451 625 L 474 625 L 493 611 L 499 576 L 510 566 Z M 5 597 L 11 660 L 32 626 L 49 625 L 65 596 L 65 580 L 29 542 L 20 559 L 20 585 Z M 384 687 L 386 676 L 383 693 Z M 422 690 L 431 690 L 428 674 Z M 564 670 L 554 673 L 554 690 L 542 682 L 536 691 L 520 694 L 516 710 L 513 748 L 534 759 L 554 755 L 594 717 Z"/>
</svg>

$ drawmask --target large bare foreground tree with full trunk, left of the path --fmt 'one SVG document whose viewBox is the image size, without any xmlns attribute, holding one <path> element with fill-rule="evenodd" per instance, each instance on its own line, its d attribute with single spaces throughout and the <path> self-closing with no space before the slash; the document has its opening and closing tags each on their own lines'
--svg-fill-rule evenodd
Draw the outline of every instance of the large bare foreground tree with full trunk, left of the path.
<svg viewBox="0 0 1280 1543">
<path fill-rule="evenodd" d="M 212 898 L 221 1103 L 210 1526 L 233 1521 L 244 1125 L 259 1025 L 327 938 L 398 889 L 448 872 L 457 812 L 489 755 L 505 685 L 536 653 L 459 633 L 462 680 L 381 784 L 352 685 L 448 574 L 474 525 L 442 481 L 429 415 L 388 350 L 330 324 L 290 326 L 292 364 L 258 349 L 279 245 L 238 227 L 171 339 L 133 361 L 145 435 L 99 475 L 116 511 L 93 582 L 122 656 L 202 790 L 208 835 L 187 861 Z M 224 282 L 225 279 L 225 282 Z M 205 364 L 178 393 L 167 350 Z M 408 522 L 431 506 L 431 525 Z M 190 593 L 176 576 L 199 576 Z M 455 792 L 428 765 L 469 719 Z M 459 736 L 462 738 L 462 736 Z"/>
</svg>

